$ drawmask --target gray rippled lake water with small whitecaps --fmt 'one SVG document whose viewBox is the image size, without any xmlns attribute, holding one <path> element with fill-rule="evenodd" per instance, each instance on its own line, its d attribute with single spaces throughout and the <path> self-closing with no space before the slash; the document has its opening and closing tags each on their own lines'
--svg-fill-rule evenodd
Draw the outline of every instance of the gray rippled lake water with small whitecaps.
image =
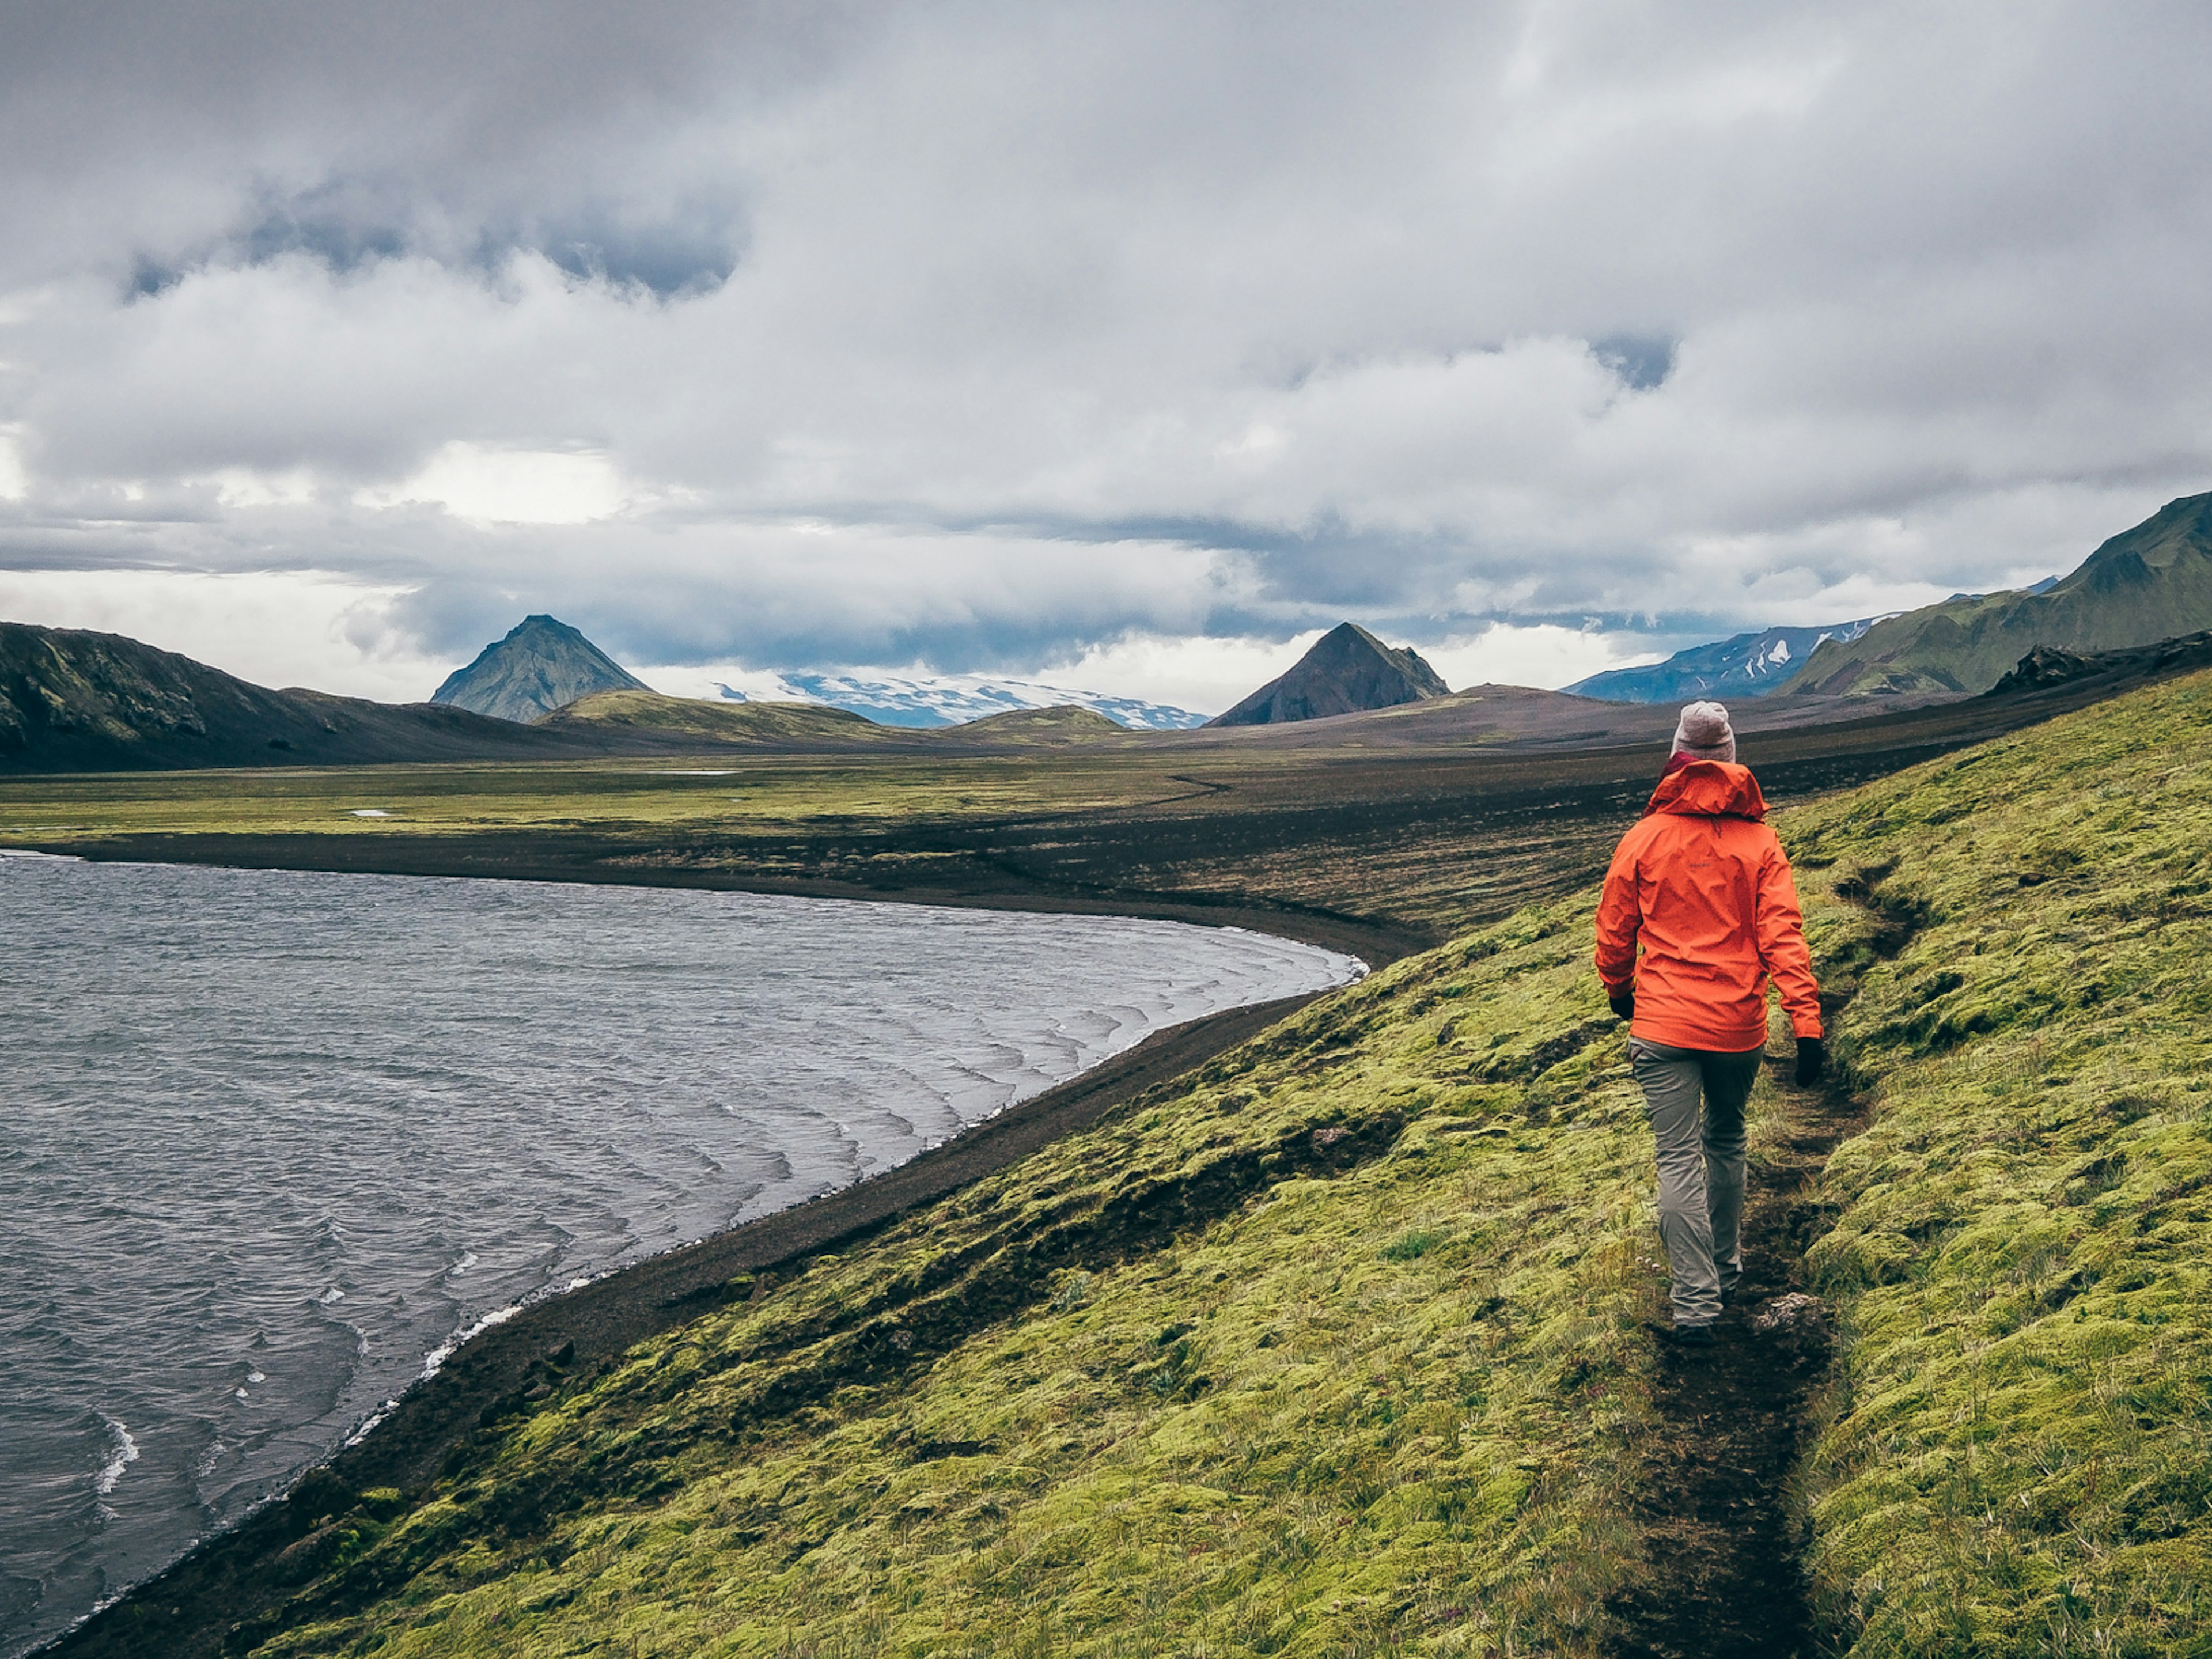
<svg viewBox="0 0 2212 1659">
<path fill-rule="evenodd" d="M 487 1314 L 1358 971 L 1177 922 L 0 856 L 0 1655 Z"/>
</svg>

